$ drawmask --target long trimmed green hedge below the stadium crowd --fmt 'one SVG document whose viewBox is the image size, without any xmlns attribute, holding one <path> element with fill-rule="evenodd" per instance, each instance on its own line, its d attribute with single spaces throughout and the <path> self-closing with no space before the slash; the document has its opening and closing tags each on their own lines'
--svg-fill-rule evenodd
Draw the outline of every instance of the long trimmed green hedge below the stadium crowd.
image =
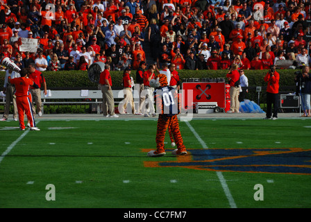
<svg viewBox="0 0 311 222">
<path fill-rule="evenodd" d="M 249 78 L 249 86 L 267 86 L 264 82 L 264 76 L 268 70 L 246 70 L 245 75 Z M 278 69 L 280 74 L 280 86 L 294 86 L 293 69 Z M 135 79 L 136 71 L 133 70 L 131 76 Z M 180 79 L 185 78 L 226 78 L 228 70 L 178 70 Z M 47 87 L 97 87 L 96 83 L 92 83 L 87 71 L 44 71 L 44 78 L 47 81 Z M 121 87 L 123 72 L 111 71 L 113 87 Z M 0 85 L 3 86 L 4 76 L 6 73 L 0 73 Z"/>
</svg>

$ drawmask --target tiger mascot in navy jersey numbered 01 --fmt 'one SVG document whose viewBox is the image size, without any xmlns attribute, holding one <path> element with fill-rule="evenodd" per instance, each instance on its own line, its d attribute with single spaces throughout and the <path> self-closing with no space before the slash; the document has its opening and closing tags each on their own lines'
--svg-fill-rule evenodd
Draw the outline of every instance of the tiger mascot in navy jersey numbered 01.
<svg viewBox="0 0 311 222">
<path fill-rule="evenodd" d="M 156 79 L 150 81 L 150 86 L 155 88 L 155 104 L 159 114 L 157 134 L 155 142 L 157 144 L 156 151 L 150 151 L 149 156 L 156 157 L 165 155 L 165 133 L 169 128 L 172 144 L 175 142 L 177 148 L 172 151 L 173 155 L 187 154 L 185 145 L 183 144 L 183 137 L 180 135 L 179 123 L 177 114 L 179 113 L 178 93 L 173 87 L 167 86 L 167 76 L 159 74 Z M 173 146 L 173 145 L 172 145 Z"/>
</svg>

